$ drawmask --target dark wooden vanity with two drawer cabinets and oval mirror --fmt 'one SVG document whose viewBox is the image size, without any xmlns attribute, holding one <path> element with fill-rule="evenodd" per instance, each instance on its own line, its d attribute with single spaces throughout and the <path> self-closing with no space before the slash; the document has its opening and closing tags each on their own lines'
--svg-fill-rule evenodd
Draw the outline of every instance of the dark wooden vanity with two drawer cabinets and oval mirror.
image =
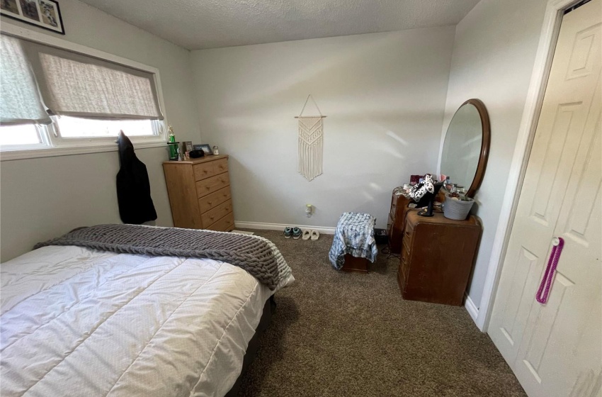
<svg viewBox="0 0 602 397">
<path fill-rule="evenodd" d="M 455 112 L 445 132 L 440 169 L 453 184 L 465 186 L 465 196 L 469 198 L 475 197 L 483 180 L 490 140 L 487 108 L 479 99 L 468 99 Z M 397 281 L 403 298 L 462 305 L 479 248 L 480 220 L 475 216 L 452 220 L 443 213 L 434 213 L 431 218 L 419 216 L 418 210 L 400 208 L 403 201 L 393 196 L 389 216 L 391 252 L 402 246 Z M 399 230 L 403 237 L 399 237 Z"/>
</svg>

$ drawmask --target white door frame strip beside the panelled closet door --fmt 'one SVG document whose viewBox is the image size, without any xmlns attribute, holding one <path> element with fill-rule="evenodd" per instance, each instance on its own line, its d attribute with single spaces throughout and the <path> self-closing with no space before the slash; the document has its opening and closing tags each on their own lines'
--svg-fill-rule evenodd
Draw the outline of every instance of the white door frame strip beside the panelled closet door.
<svg viewBox="0 0 602 397">
<path fill-rule="evenodd" d="M 514 147 L 504 201 L 501 205 L 499 223 L 492 246 L 492 255 L 489 259 L 483 295 L 479 303 L 477 318 L 475 319 L 477 327 L 482 332 L 487 332 L 487 328 L 489 327 L 489 320 L 491 319 L 493 303 L 501 275 L 501 267 L 506 257 L 506 249 L 510 240 L 514 217 L 516 216 L 518 198 L 521 195 L 523 179 L 527 171 L 531 147 L 533 147 L 533 139 L 535 138 L 535 130 L 540 116 L 547 79 L 550 76 L 550 68 L 552 67 L 552 58 L 560 32 L 562 15 L 564 14 L 564 10 L 578 4 L 580 1 L 547 1 L 538 50 L 535 55 L 535 64 L 533 65 L 533 72 L 531 73 L 529 89 L 523 109 L 523 117 L 521 118 L 521 126 L 518 130 L 518 138 Z"/>
</svg>

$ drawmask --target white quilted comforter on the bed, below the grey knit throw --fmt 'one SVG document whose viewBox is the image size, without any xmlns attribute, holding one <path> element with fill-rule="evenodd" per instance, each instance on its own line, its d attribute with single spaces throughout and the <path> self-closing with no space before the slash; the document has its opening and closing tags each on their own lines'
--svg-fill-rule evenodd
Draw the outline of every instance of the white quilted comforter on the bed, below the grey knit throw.
<svg viewBox="0 0 602 397">
<path fill-rule="evenodd" d="M 1 396 L 223 396 L 270 295 L 211 259 L 29 252 L 1 265 Z"/>
</svg>

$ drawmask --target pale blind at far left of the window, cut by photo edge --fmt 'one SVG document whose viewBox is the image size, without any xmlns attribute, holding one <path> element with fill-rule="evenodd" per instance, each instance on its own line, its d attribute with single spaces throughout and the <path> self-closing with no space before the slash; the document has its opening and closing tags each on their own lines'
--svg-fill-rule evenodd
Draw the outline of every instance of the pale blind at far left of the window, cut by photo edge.
<svg viewBox="0 0 602 397">
<path fill-rule="evenodd" d="M 21 40 L 0 35 L 0 123 L 50 124 Z"/>
</svg>

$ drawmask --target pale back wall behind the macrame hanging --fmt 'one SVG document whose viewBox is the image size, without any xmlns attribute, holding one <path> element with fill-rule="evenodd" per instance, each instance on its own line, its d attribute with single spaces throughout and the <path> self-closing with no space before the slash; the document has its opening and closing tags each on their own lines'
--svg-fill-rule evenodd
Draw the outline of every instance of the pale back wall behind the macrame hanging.
<svg viewBox="0 0 602 397">
<path fill-rule="evenodd" d="M 363 211 L 384 228 L 392 189 L 436 169 L 453 33 L 193 51 L 201 135 L 231 155 L 235 219 L 334 227 L 344 211 Z M 297 173 L 294 118 L 307 94 L 328 116 L 324 174 L 311 182 Z"/>
</svg>

